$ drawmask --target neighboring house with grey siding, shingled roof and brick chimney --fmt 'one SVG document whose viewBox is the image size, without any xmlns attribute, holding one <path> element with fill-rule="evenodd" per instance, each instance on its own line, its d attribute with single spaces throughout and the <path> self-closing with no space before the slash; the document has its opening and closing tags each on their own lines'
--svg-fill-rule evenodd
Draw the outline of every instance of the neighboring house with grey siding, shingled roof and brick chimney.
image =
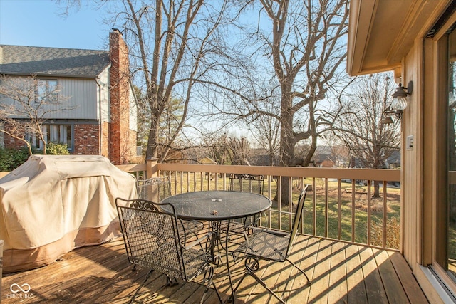
<svg viewBox="0 0 456 304">
<path fill-rule="evenodd" d="M 0 45 L 0 74 L 36 75 L 72 110 L 53 112 L 43 129 L 47 141 L 63 142 L 71 154 L 108 157 L 114 164 L 128 163 L 136 155 L 136 101 L 130 83 L 128 47 L 120 31 L 110 33 L 110 51 Z M 0 102 L 8 102 L 5 98 Z M 58 102 L 58 100 L 57 100 Z M 4 147 L 22 147 L 9 135 Z M 37 148 L 42 142 L 30 137 Z"/>
</svg>

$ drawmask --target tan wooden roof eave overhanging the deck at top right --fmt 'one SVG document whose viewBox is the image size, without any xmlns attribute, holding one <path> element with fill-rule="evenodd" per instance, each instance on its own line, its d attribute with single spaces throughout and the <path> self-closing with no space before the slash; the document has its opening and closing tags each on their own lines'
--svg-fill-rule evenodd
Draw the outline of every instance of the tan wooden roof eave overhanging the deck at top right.
<svg viewBox="0 0 456 304">
<path fill-rule="evenodd" d="M 347 71 L 363 75 L 394 70 L 400 77 L 401 61 L 426 36 L 451 0 L 351 0 L 348 21 Z"/>
</svg>

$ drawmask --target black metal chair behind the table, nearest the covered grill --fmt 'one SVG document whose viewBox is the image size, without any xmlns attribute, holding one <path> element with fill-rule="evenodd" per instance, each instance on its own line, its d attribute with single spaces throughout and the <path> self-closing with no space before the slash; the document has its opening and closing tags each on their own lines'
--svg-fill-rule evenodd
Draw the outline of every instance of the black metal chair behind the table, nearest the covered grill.
<svg viewBox="0 0 456 304">
<path fill-rule="evenodd" d="M 162 201 L 168 196 L 171 196 L 171 182 L 168 177 L 150 177 L 149 179 L 138 179 L 136 181 L 136 189 L 138 191 L 138 199 L 146 199 L 148 201 Z M 202 221 L 190 221 L 179 219 L 182 225 L 181 231 L 186 236 L 197 236 L 204 229 Z M 186 241 L 184 238 L 182 241 Z"/>
</svg>

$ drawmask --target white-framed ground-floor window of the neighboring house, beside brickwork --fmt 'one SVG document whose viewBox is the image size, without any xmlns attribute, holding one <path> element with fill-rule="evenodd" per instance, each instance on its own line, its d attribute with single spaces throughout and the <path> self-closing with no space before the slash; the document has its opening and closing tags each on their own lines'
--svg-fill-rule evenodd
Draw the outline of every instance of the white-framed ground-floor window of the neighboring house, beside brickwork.
<svg viewBox="0 0 456 304">
<path fill-rule="evenodd" d="M 71 125 L 43 125 L 41 126 L 46 143 L 57 142 L 66 144 L 69 151 L 73 151 L 73 132 Z M 32 147 L 43 149 L 43 142 L 36 135 L 28 135 L 26 139 Z"/>
</svg>

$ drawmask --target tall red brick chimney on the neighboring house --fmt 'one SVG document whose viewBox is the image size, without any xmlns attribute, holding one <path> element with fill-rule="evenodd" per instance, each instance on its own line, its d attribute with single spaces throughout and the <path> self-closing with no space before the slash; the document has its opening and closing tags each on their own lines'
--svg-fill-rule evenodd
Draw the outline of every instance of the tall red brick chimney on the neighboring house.
<svg viewBox="0 0 456 304">
<path fill-rule="evenodd" d="M 130 130 L 130 62 L 128 46 L 117 28 L 110 43 L 110 161 L 127 164 L 136 148 L 136 132 Z M 133 134 L 134 133 L 134 134 Z"/>
</svg>

